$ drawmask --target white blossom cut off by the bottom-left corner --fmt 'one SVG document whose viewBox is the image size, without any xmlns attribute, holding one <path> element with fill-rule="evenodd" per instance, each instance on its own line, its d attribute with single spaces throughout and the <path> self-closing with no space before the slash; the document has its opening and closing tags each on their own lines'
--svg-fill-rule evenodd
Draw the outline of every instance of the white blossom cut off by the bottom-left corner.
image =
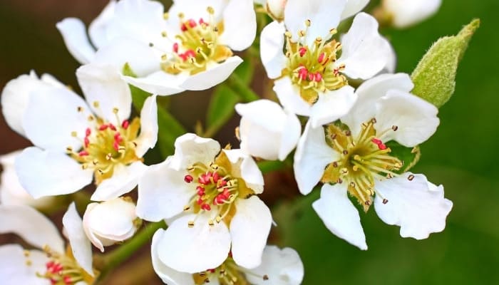
<svg viewBox="0 0 499 285">
<path fill-rule="evenodd" d="M 36 248 L 23 249 L 19 244 L 0 246 L 2 284 L 93 284 L 91 244 L 74 203 L 64 214 L 63 226 L 72 256 L 66 254 L 56 226 L 43 214 L 28 206 L 0 205 L 0 234 L 18 234 Z"/>
</svg>

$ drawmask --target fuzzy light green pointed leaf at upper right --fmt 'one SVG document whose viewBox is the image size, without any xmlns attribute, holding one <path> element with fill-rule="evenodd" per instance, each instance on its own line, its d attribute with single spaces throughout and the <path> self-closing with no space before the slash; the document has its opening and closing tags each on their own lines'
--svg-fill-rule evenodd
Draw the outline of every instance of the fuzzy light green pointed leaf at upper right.
<svg viewBox="0 0 499 285">
<path fill-rule="evenodd" d="M 411 93 L 440 108 L 454 93 L 456 72 L 468 43 L 480 26 L 475 19 L 456 36 L 446 36 L 433 43 L 414 69 L 411 78 L 414 89 Z"/>
</svg>

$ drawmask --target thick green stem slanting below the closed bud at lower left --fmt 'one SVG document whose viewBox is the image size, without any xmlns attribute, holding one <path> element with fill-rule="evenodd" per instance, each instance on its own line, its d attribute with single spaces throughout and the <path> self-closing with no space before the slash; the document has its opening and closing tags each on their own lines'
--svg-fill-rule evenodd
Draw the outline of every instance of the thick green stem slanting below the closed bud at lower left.
<svg viewBox="0 0 499 285">
<path fill-rule="evenodd" d="M 113 271 L 113 269 L 122 264 L 123 261 L 132 256 L 138 249 L 143 247 L 145 243 L 150 241 L 151 237 L 158 229 L 165 226 L 166 224 L 164 221 L 147 224 L 142 231 L 135 234 L 134 237 L 122 244 L 118 249 L 97 257 L 95 266 L 96 269 L 101 271 L 98 282 L 102 282 L 110 271 Z"/>
</svg>

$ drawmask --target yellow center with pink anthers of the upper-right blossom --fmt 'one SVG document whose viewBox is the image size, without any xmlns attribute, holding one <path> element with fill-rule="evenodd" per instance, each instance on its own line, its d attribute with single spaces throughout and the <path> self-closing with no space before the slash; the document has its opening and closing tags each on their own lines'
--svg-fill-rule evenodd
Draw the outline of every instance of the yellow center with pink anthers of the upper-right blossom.
<svg viewBox="0 0 499 285">
<path fill-rule="evenodd" d="M 340 73 L 345 66 L 336 64 L 341 43 L 334 39 L 326 42 L 318 37 L 311 46 L 307 46 L 304 40 L 310 25 L 310 20 L 307 20 L 307 28 L 299 31 L 296 43 L 292 42 L 292 34 L 289 31 L 285 33 L 287 66 L 282 74 L 289 76 L 292 83 L 299 86 L 303 100 L 313 104 L 319 99 L 319 93 L 339 89 L 348 82 Z M 334 35 L 336 29 L 332 28 L 330 33 Z"/>
</svg>

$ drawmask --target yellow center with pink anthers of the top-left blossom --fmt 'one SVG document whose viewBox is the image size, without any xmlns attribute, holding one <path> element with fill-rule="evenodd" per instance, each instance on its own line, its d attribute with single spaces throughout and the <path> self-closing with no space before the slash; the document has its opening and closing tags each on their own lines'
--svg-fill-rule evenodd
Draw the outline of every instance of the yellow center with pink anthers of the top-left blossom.
<svg viewBox="0 0 499 285">
<path fill-rule="evenodd" d="M 223 22 L 215 23 L 212 7 L 207 7 L 210 15 L 208 20 L 185 19 L 180 13 L 180 33 L 173 40 L 173 53 L 170 57 L 162 56 L 161 66 L 167 73 L 178 74 L 182 71 L 190 75 L 200 73 L 207 69 L 209 63 L 220 63 L 232 56 L 232 51 L 227 46 L 220 45 L 217 41 L 223 32 Z M 163 37 L 168 37 L 166 32 Z"/>
</svg>

